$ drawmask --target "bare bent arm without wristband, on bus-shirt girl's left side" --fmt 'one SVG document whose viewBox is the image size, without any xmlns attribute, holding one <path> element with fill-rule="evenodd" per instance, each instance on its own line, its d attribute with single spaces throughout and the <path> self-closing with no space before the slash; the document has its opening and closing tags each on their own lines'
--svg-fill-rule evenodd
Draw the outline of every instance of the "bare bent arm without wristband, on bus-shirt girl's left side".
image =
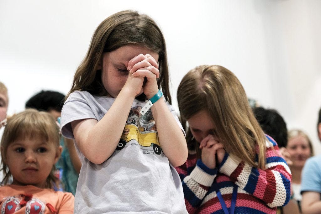
<svg viewBox="0 0 321 214">
<path fill-rule="evenodd" d="M 124 87 L 100 121 L 83 126 L 80 122 L 73 127 L 74 131 L 76 130 L 77 145 L 88 160 L 100 164 L 113 154 L 123 133 L 133 101 L 134 96 Z M 82 127 L 77 129 L 77 126 Z"/>
</svg>

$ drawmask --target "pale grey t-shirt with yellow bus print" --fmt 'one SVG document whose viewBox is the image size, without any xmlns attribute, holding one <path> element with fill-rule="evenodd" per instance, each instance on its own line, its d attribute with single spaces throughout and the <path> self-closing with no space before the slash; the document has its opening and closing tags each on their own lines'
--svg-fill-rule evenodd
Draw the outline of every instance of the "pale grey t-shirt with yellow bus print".
<svg viewBox="0 0 321 214">
<path fill-rule="evenodd" d="M 70 122 L 100 121 L 114 101 L 73 92 L 62 109 L 62 134 L 74 139 Z M 105 162 L 94 164 L 80 153 L 75 213 L 187 213 L 179 175 L 161 150 L 151 111 L 139 113 L 144 104 L 134 100 L 119 144 Z M 174 108 L 168 107 L 182 129 Z"/>
</svg>

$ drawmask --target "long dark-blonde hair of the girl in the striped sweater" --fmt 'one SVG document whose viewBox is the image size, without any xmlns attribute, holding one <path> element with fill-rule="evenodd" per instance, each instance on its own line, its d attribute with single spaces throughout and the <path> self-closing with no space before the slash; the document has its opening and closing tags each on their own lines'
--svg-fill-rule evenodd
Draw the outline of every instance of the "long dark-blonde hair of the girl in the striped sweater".
<svg viewBox="0 0 321 214">
<path fill-rule="evenodd" d="M 201 150 L 187 128 L 187 120 L 206 110 L 214 121 L 225 150 L 248 164 L 265 168 L 265 135 L 253 115 L 238 78 L 219 65 L 202 65 L 189 71 L 177 91 L 178 107 L 187 131 L 189 149 Z M 197 146 L 196 146 L 197 145 Z M 256 163 L 258 146 L 258 163 Z"/>
</svg>

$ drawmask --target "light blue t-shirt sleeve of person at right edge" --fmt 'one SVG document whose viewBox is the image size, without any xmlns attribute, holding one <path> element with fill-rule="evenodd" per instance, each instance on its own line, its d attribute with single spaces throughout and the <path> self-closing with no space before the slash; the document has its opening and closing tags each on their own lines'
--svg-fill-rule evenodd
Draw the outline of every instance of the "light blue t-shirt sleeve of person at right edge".
<svg viewBox="0 0 321 214">
<path fill-rule="evenodd" d="M 301 193 L 312 191 L 321 193 L 321 169 L 318 161 L 321 158 L 309 158 L 302 170 Z"/>
</svg>

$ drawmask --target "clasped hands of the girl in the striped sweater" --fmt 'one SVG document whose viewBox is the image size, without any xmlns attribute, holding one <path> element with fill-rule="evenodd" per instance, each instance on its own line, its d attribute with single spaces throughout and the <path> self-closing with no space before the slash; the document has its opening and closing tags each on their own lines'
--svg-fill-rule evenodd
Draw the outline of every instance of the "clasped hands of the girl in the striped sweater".
<svg viewBox="0 0 321 214">
<path fill-rule="evenodd" d="M 210 169 L 216 168 L 223 160 L 225 150 L 223 144 L 218 140 L 217 137 L 209 134 L 200 143 L 202 150 L 202 162 Z M 216 163 L 216 157 L 218 163 Z"/>
</svg>

